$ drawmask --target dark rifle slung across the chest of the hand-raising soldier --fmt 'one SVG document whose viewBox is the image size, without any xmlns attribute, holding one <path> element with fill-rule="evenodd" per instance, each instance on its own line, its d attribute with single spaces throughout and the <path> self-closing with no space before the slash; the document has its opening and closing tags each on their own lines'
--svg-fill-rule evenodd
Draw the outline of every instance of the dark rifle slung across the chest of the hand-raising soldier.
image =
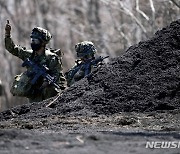
<svg viewBox="0 0 180 154">
<path fill-rule="evenodd" d="M 30 67 L 32 71 L 30 72 L 30 75 L 33 75 L 33 78 L 31 80 L 31 84 L 34 85 L 36 81 L 39 79 L 39 77 L 44 77 L 50 84 L 52 84 L 57 89 L 61 89 L 61 87 L 55 82 L 54 77 L 49 75 L 47 73 L 48 68 L 46 66 L 39 66 L 33 61 L 31 61 L 29 58 L 27 58 L 23 63 L 22 67 Z M 29 76 L 30 76 L 29 75 Z"/>
</svg>

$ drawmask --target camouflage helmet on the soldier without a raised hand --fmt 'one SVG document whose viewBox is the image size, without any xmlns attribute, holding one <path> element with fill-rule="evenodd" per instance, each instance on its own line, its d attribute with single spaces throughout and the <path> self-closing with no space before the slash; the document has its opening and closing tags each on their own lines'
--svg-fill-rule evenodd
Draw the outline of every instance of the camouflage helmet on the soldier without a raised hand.
<svg viewBox="0 0 180 154">
<path fill-rule="evenodd" d="M 96 53 L 94 44 L 90 41 L 84 41 L 75 45 L 77 57 L 92 57 Z"/>
</svg>

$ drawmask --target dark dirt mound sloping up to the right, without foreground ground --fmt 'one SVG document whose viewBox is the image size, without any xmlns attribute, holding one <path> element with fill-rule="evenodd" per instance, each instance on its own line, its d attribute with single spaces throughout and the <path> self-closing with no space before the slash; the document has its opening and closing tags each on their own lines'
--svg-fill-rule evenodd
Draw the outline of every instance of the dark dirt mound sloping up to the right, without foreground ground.
<svg viewBox="0 0 180 154">
<path fill-rule="evenodd" d="M 53 99 L 4 111 L 0 118 L 173 110 L 180 107 L 179 98 L 180 20 L 111 59 L 64 91 L 51 107 L 45 106 Z"/>
</svg>

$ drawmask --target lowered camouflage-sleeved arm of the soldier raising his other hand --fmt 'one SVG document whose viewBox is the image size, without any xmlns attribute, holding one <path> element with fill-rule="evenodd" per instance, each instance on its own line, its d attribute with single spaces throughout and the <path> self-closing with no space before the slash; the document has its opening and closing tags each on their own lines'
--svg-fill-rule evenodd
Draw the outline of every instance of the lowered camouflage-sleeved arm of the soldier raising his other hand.
<svg viewBox="0 0 180 154">
<path fill-rule="evenodd" d="M 53 76 L 57 82 L 57 84 L 59 84 L 62 89 L 64 87 L 64 89 L 66 88 L 66 79 L 63 75 L 63 71 L 62 71 L 62 62 L 61 59 L 59 59 L 56 56 L 52 56 L 50 59 L 50 63 L 49 63 L 49 70 L 50 70 L 50 75 Z"/>
</svg>

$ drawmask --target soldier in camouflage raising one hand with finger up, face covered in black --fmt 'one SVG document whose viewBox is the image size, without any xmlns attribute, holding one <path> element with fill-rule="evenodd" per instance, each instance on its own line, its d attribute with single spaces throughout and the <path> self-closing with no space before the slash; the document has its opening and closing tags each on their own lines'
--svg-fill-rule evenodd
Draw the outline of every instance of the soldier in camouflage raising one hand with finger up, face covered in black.
<svg viewBox="0 0 180 154">
<path fill-rule="evenodd" d="M 29 58 L 38 65 L 45 65 L 48 68 L 48 73 L 60 85 L 61 90 L 65 89 L 66 79 L 62 73 L 61 58 L 51 52 L 50 49 L 46 49 L 46 44 L 52 38 L 50 32 L 41 27 L 35 27 L 30 37 L 32 50 L 27 50 L 24 47 L 14 44 L 11 38 L 11 25 L 7 20 L 5 26 L 6 49 L 23 61 Z M 15 76 L 13 86 L 11 87 L 11 93 L 14 96 L 27 97 L 29 102 L 39 102 L 57 95 L 59 91 L 43 77 L 40 77 L 36 84 L 32 85 L 30 83 L 31 78 L 28 75 L 31 71 L 31 68 L 27 67 L 24 73 Z"/>
</svg>

